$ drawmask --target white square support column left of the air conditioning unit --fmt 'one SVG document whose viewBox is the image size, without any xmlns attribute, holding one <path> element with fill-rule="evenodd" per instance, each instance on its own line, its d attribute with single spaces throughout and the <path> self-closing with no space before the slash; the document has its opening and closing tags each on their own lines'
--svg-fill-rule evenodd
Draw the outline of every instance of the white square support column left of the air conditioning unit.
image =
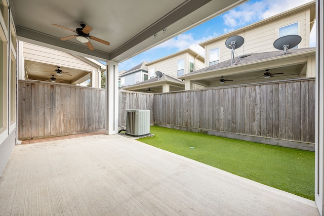
<svg viewBox="0 0 324 216">
<path fill-rule="evenodd" d="M 106 62 L 106 134 L 118 134 L 118 62 Z"/>
</svg>

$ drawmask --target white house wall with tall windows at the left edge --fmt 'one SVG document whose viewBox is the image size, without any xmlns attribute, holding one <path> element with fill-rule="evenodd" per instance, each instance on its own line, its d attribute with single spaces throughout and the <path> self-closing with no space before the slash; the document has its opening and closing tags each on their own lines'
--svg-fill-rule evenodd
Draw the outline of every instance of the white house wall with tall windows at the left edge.
<svg viewBox="0 0 324 216">
<path fill-rule="evenodd" d="M 17 40 L 9 5 L 0 12 L 0 176 L 17 142 Z"/>
</svg>

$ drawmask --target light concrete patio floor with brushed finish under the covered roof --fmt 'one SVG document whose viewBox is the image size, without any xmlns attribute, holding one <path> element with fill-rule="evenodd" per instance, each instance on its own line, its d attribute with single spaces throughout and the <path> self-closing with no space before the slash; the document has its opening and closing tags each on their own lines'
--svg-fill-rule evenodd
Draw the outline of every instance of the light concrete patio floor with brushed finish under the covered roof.
<svg viewBox="0 0 324 216">
<path fill-rule="evenodd" d="M 0 215 L 319 215 L 315 202 L 121 135 L 15 146 Z"/>
</svg>

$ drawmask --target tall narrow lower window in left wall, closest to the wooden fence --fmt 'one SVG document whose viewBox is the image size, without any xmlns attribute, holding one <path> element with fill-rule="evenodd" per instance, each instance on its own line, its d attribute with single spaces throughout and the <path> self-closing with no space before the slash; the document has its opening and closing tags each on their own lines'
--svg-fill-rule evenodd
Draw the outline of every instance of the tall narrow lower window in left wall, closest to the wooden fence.
<svg viewBox="0 0 324 216">
<path fill-rule="evenodd" d="M 16 121 L 16 59 L 11 54 L 10 65 L 10 121 Z"/>
</svg>

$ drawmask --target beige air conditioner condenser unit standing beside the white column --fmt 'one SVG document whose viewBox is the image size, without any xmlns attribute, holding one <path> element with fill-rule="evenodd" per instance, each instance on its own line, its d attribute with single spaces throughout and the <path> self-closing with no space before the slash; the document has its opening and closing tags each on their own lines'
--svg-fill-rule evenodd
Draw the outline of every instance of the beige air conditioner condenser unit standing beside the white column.
<svg viewBox="0 0 324 216">
<path fill-rule="evenodd" d="M 142 136 L 150 133 L 150 110 L 126 110 L 126 134 Z"/>
</svg>

